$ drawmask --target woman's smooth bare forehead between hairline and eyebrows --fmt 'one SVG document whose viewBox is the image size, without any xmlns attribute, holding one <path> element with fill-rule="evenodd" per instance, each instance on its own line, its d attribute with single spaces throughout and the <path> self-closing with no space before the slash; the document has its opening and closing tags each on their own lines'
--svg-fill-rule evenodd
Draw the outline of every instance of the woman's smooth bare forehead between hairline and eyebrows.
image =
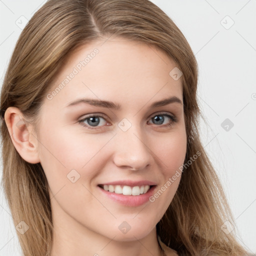
<svg viewBox="0 0 256 256">
<path fill-rule="evenodd" d="M 138 104 L 182 95 L 181 79 L 167 54 L 140 41 L 115 38 L 95 40 L 77 47 L 55 76 L 49 104 L 63 107 L 80 96 Z M 182 100 L 182 98 L 181 98 Z"/>
</svg>

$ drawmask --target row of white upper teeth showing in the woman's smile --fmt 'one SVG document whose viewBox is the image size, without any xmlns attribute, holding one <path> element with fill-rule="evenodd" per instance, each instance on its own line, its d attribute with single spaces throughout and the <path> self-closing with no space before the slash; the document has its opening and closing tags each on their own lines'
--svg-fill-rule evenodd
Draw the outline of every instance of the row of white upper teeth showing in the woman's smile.
<svg viewBox="0 0 256 256">
<path fill-rule="evenodd" d="M 124 194 L 124 195 L 139 195 L 144 194 L 150 188 L 149 185 L 142 185 L 142 186 L 126 186 L 123 187 L 121 185 L 103 185 L 103 189 L 109 192 L 114 192 L 117 194 Z"/>
</svg>

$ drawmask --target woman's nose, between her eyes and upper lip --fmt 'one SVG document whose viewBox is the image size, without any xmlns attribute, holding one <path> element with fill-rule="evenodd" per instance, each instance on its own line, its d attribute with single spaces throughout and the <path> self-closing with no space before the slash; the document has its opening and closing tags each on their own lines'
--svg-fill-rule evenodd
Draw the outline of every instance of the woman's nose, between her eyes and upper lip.
<svg viewBox="0 0 256 256">
<path fill-rule="evenodd" d="M 113 143 L 113 161 L 116 166 L 140 170 L 152 164 L 152 151 L 147 145 L 145 134 L 141 136 L 138 129 L 118 130 Z"/>
</svg>

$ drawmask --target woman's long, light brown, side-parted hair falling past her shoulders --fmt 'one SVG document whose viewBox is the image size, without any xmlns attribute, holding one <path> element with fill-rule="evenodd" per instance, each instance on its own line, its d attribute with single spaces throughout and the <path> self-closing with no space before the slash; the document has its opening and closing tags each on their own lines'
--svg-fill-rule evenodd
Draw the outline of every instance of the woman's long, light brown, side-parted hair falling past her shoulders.
<svg viewBox="0 0 256 256">
<path fill-rule="evenodd" d="M 162 49 L 182 71 L 187 134 L 180 184 L 156 230 L 161 240 L 181 255 L 244 255 L 234 232 L 225 233 L 225 221 L 234 225 L 221 184 L 205 154 L 198 133 L 197 63 L 185 37 L 173 21 L 149 0 L 48 0 L 21 32 L 1 89 L 1 116 L 18 107 L 36 130 L 38 109 L 65 58 L 79 45 L 99 37 L 121 36 Z M 16 151 L 6 123 L 1 125 L 2 184 L 24 255 L 50 252 L 52 218 L 48 183 L 40 163 L 26 162 Z M 235 226 L 235 225 L 234 225 Z"/>
</svg>

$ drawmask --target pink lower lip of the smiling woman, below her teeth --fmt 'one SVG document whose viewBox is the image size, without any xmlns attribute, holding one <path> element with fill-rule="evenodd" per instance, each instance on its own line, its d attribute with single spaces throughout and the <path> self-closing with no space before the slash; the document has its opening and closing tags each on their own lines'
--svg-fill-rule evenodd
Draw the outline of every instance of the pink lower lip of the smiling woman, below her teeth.
<svg viewBox="0 0 256 256">
<path fill-rule="evenodd" d="M 140 195 L 117 194 L 114 192 L 106 191 L 100 186 L 97 186 L 97 187 L 110 199 L 120 204 L 127 205 L 127 206 L 139 206 L 149 201 L 149 197 L 152 196 L 156 186 L 154 185 L 150 187 L 150 189 L 146 193 L 140 194 Z"/>
</svg>

